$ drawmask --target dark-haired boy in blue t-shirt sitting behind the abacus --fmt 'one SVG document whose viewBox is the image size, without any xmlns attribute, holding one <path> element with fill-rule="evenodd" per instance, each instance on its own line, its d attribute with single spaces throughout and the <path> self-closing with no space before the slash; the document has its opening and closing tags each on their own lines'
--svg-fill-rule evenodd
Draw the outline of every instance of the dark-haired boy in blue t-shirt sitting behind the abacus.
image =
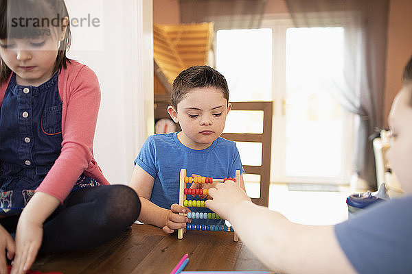
<svg viewBox="0 0 412 274">
<path fill-rule="evenodd" d="M 214 178 L 236 177 L 237 169 L 243 172 L 236 143 L 220 137 L 231 109 L 223 75 L 209 66 L 182 71 L 173 82 L 171 102 L 168 113 L 182 131 L 149 136 L 130 181 L 141 200 L 138 220 L 163 227 L 168 234 L 189 221 L 179 213 L 190 210 L 177 204 L 181 169 L 188 176 Z M 244 189 L 243 179 L 240 186 Z"/>
</svg>

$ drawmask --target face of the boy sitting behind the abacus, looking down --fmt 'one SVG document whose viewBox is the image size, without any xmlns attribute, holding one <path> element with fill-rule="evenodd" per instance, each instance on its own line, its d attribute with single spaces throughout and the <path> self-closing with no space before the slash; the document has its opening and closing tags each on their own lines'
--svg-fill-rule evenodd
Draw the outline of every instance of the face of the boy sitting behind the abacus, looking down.
<svg viewBox="0 0 412 274">
<path fill-rule="evenodd" d="M 190 90 L 178 103 L 177 112 L 172 107 L 168 112 L 181 126 L 178 137 L 182 144 L 191 149 L 205 149 L 222 134 L 230 109 L 222 91 L 209 87 Z"/>
</svg>

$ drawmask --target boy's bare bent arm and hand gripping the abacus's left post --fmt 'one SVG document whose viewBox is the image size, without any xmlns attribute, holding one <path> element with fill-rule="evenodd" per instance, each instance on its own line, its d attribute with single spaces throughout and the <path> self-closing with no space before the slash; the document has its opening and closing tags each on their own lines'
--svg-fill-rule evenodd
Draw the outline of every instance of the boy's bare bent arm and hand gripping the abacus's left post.
<svg viewBox="0 0 412 274">
<path fill-rule="evenodd" d="M 179 215 L 179 213 L 189 212 L 187 208 L 174 203 L 170 210 L 167 210 L 150 201 L 154 182 L 155 178 L 144 171 L 138 164 L 135 165 L 129 186 L 137 192 L 140 198 L 141 211 L 138 220 L 142 223 L 162 227 L 163 232 L 167 234 L 173 233 L 175 229 L 185 227 L 189 219 Z"/>
</svg>

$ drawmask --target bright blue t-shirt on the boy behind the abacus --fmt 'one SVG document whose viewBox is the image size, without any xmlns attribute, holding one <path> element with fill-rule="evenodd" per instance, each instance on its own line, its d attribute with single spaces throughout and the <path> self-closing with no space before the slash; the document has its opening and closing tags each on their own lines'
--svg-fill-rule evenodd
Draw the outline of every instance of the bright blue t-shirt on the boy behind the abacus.
<svg viewBox="0 0 412 274">
<path fill-rule="evenodd" d="M 207 149 L 185 147 L 177 132 L 149 136 L 135 160 L 135 164 L 155 178 L 150 201 L 170 209 L 179 203 L 180 170 L 192 174 L 222 179 L 236 177 L 236 169 L 243 173 L 236 142 L 217 138 Z"/>
</svg>

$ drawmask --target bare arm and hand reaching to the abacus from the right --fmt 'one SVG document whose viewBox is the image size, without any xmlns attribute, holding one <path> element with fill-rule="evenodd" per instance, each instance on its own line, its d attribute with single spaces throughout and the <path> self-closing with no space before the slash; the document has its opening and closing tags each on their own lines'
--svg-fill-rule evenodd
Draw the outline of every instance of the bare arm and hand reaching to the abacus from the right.
<svg viewBox="0 0 412 274">
<path fill-rule="evenodd" d="M 299 225 L 256 206 L 233 182 L 209 190 L 205 206 L 227 219 L 240 239 L 273 271 L 355 273 L 336 240 L 333 226 Z"/>
</svg>

